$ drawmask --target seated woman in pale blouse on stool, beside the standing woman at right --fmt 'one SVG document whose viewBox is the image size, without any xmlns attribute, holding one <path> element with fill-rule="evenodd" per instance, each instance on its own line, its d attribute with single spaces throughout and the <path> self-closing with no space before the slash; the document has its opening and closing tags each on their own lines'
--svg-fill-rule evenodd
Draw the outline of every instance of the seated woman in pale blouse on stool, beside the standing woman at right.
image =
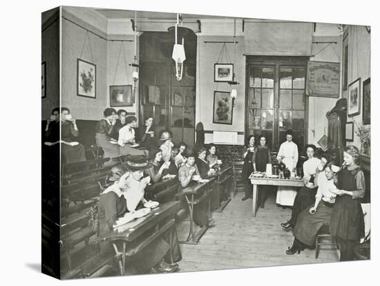
<svg viewBox="0 0 380 286">
<path fill-rule="evenodd" d="M 324 171 L 325 175 L 321 173 L 314 204 L 298 215 L 293 229 L 294 242 L 292 247 L 287 249 L 286 254 L 295 254 L 296 252 L 299 254 L 305 247 L 313 247 L 319 229 L 323 225 L 330 224 L 336 198 L 332 190 L 336 189 L 334 179 L 336 179 L 336 172 L 339 171 L 339 167 L 329 162 L 325 164 Z"/>
</svg>

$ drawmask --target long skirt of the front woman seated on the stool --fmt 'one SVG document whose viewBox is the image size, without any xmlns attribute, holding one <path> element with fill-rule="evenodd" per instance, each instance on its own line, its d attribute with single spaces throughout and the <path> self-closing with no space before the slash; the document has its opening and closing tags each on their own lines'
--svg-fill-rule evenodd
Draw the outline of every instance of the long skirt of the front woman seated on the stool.
<svg viewBox="0 0 380 286">
<path fill-rule="evenodd" d="M 316 207 L 316 213 L 314 213 L 314 215 L 309 213 L 309 209 L 314 207 L 314 204 L 306 207 L 298 215 L 296 225 L 293 229 L 294 237 L 305 245 L 314 245 L 319 229 L 321 229 L 323 225 L 330 224 L 333 206 L 334 204 L 329 204 L 321 200 L 318 207 Z"/>
</svg>

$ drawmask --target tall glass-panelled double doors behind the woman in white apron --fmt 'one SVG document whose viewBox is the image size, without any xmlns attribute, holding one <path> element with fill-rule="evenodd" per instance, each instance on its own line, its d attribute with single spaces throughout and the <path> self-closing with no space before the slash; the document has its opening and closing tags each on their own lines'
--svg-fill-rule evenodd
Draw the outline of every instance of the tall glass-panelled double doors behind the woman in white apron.
<svg viewBox="0 0 380 286">
<path fill-rule="evenodd" d="M 267 144 L 278 149 L 285 132 L 294 131 L 298 151 L 304 151 L 307 130 L 305 60 L 260 58 L 247 62 L 246 134 L 267 137 Z M 258 142 L 256 142 L 258 143 Z"/>
</svg>

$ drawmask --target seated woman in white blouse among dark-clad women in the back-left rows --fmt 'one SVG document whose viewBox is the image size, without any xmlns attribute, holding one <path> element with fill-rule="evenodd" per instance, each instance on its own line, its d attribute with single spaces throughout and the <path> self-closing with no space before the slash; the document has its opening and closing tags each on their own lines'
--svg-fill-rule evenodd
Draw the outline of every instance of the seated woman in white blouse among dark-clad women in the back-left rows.
<svg viewBox="0 0 380 286">
<path fill-rule="evenodd" d="M 120 155 L 144 155 L 143 150 L 135 149 L 131 146 L 135 144 L 135 124 L 137 118 L 128 116 L 125 119 L 125 126 L 119 131 L 119 140 L 117 144 L 120 145 Z"/>
</svg>

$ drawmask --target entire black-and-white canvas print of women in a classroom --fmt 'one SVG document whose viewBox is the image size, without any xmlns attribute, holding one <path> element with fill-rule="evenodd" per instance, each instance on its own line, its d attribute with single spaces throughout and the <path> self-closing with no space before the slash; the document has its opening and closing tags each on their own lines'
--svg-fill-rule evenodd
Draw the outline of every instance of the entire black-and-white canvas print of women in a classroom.
<svg viewBox="0 0 380 286">
<path fill-rule="evenodd" d="M 46 77 L 57 90 L 41 101 L 42 272 L 287 266 L 293 281 L 328 263 L 314 277 L 328 284 L 355 261 L 360 273 L 372 259 L 365 23 L 133 9 L 42 12 L 42 43 L 61 47 L 59 61 L 42 48 L 59 63 L 42 66 L 42 97 Z"/>
</svg>

